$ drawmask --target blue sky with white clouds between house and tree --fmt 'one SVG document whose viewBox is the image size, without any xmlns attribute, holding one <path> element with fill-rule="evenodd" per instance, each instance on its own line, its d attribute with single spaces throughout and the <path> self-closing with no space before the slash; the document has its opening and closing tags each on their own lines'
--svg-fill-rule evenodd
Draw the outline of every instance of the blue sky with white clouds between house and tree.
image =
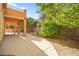
<svg viewBox="0 0 79 59">
<path fill-rule="evenodd" d="M 35 3 L 9 3 L 8 6 L 27 10 L 27 17 L 31 17 L 34 19 L 39 18 L 39 13 L 37 13 L 39 7 L 36 6 Z"/>
</svg>

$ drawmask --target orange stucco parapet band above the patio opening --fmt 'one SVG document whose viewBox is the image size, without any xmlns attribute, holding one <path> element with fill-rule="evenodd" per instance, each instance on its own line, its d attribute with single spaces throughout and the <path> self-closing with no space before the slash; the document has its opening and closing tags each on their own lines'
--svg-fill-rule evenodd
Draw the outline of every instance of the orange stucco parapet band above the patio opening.
<svg viewBox="0 0 79 59">
<path fill-rule="evenodd" d="M 26 17 L 24 12 L 21 12 L 21 11 L 15 10 L 15 9 L 11 9 L 11 8 L 7 8 L 6 10 L 7 10 L 7 12 L 5 12 L 4 16 L 14 17 L 14 18 L 22 19 L 22 20 L 24 20 L 24 18 Z"/>
</svg>

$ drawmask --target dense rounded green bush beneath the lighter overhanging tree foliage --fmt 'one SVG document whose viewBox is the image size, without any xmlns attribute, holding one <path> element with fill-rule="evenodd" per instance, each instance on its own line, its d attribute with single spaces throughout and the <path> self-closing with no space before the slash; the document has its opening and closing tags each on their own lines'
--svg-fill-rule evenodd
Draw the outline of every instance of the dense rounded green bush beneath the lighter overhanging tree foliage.
<svg viewBox="0 0 79 59">
<path fill-rule="evenodd" d="M 61 29 L 62 26 L 57 23 L 45 20 L 41 24 L 39 34 L 46 37 L 58 37 L 61 34 Z"/>
</svg>

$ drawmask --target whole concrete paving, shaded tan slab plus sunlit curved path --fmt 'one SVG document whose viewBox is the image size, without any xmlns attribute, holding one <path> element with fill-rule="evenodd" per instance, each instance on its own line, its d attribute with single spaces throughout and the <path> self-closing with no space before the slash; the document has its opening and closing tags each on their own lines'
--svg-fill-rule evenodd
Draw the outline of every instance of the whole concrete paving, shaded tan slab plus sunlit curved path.
<svg viewBox="0 0 79 59">
<path fill-rule="evenodd" d="M 0 47 L 0 55 L 57 56 L 57 52 L 50 43 L 34 35 L 7 35 Z"/>
</svg>

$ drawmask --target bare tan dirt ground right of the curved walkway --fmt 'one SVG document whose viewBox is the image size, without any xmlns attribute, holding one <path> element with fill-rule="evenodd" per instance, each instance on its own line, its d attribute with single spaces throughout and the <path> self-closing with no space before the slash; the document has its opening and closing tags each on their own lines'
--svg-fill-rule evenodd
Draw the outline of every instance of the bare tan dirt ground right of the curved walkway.
<svg viewBox="0 0 79 59">
<path fill-rule="evenodd" d="M 64 39 L 47 39 L 53 44 L 60 56 L 79 56 L 79 41 Z"/>
</svg>

